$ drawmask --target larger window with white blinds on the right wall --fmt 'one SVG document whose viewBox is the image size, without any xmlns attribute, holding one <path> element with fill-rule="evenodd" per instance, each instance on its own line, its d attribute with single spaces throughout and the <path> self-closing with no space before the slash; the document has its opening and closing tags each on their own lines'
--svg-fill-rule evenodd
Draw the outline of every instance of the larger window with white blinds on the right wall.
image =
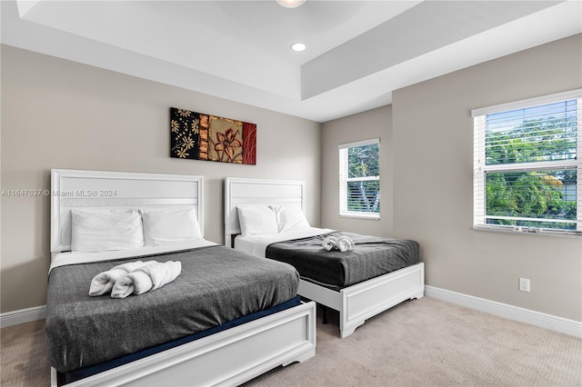
<svg viewBox="0 0 582 387">
<path fill-rule="evenodd" d="M 475 228 L 582 236 L 582 89 L 472 115 Z"/>
</svg>

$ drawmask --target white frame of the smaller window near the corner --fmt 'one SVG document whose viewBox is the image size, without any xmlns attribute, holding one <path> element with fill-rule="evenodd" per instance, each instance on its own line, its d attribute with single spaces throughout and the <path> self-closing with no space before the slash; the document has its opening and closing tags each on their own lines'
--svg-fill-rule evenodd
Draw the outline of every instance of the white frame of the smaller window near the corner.
<svg viewBox="0 0 582 387">
<path fill-rule="evenodd" d="M 377 145 L 378 147 L 378 174 L 376 176 L 366 176 L 366 177 L 347 177 L 348 160 L 347 154 L 350 148 L 356 148 L 366 145 Z M 376 213 L 361 212 L 361 211 L 350 211 L 347 209 L 347 184 L 349 182 L 359 182 L 359 181 L 377 181 L 380 184 L 380 139 L 371 138 L 369 140 L 357 141 L 354 143 L 339 144 L 337 145 L 338 150 L 338 167 L 339 167 L 339 216 L 348 218 L 361 218 L 361 219 L 380 219 L 380 210 Z"/>
</svg>

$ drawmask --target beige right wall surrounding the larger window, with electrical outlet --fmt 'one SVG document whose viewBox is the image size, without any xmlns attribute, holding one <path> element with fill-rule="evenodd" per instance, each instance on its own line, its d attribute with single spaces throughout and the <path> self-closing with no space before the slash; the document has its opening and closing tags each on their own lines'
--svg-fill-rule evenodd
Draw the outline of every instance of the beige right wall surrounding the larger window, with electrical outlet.
<svg viewBox="0 0 582 387">
<path fill-rule="evenodd" d="M 394 231 L 420 242 L 428 285 L 582 321 L 582 238 L 472 229 L 470 116 L 581 87 L 581 50 L 577 35 L 393 94 Z"/>
</svg>

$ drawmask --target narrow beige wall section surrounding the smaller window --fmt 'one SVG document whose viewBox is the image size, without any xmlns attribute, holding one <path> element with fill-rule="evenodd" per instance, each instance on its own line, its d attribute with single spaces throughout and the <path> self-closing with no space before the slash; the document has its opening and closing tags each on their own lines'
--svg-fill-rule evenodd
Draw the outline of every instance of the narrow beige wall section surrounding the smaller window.
<svg viewBox="0 0 582 387">
<path fill-rule="evenodd" d="M 377 236 L 392 235 L 392 107 L 383 106 L 322 125 L 321 223 L 323 227 Z M 337 145 L 379 138 L 380 220 L 339 216 Z"/>
</svg>

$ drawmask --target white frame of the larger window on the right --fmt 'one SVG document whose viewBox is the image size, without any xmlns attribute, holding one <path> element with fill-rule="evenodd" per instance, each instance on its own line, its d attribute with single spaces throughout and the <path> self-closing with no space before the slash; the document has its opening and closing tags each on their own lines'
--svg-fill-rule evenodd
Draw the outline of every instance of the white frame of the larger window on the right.
<svg viewBox="0 0 582 387">
<path fill-rule="evenodd" d="M 516 164 L 486 164 L 486 119 L 487 114 L 504 113 L 512 110 L 536 107 L 544 104 L 554 104 L 569 100 L 577 100 L 577 154 L 575 159 L 536 161 Z M 507 104 L 496 104 L 471 111 L 474 130 L 474 174 L 473 174 L 473 228 L 476 230 L 536 233 L 549 235 L 575 235 L 582 236 L 582 89 L 570 90 L 563 93 L 548 94 L 535 98 L 528 98 Z M 511 226 L 486 223 L 486 179 L 487 173 L 511 173 L 539 170 L 576 169 L 576 203 L 577 217 L 576 230 L 557 230 L 540 227 Z M 495 218 L 501 218 L 495 216 Z M 510 216 L 507 219 L 526 220 Z"/>
</svg>

